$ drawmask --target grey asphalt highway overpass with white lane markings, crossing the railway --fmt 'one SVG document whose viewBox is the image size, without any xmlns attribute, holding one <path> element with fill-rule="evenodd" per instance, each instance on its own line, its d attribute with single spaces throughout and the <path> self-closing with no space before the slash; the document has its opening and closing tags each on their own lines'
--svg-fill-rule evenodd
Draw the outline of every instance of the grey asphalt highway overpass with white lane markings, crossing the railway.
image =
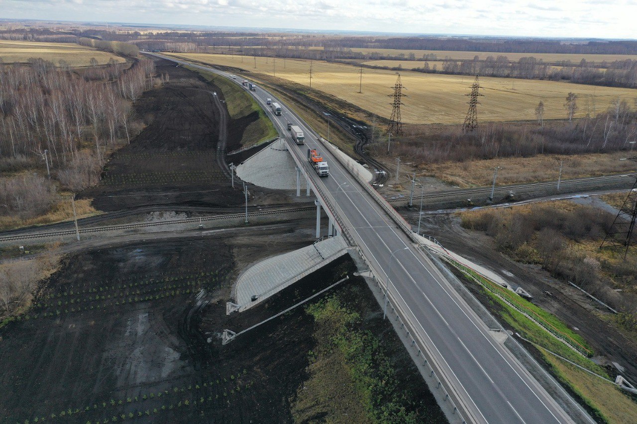
<svg viewBox="0 0 637 424">
<path fill-rule="evenodd" d="M 231 76 L 212 67 L 148 54 Z M 427 374 L 431 371 L 424 375 L 426 379 L 438 381 L 437 388 L 430 384 L 432 392 L 444 391 L 445 404 L 441 406 L 449 420 L 575 422 L 504 344 L 490 334 L 485 323 L 422 250 L 410 225 L 368 183 L 350 171 L 347 162 L 334 155 L 333 148 L 280 98 L 261 87 L 250 94 L 287 141 L 299 172 L 305 174 L 317 197 L 320 205 L 317 207 L 324 208 L 329 216 L 332 231 L 355 246 L 369 267 L 368 273 L 382 286 L 390 301 L 390 311 L 396 311 L 396 319 L 403 323 L 413 349 L 417 350 L 415 357 L 422 361 L 421 372 L 426 364 Z M 266 105 L 268 97 L 282 105 L 281 116 L 271 113 Z M 305 145 L 297 146 L 290 141 L 287 122 L 301 127 Z M 308 147 L 316 148 L 327 159 L 329 177 L 318 178 L 306 164 Z M 572 399 L 569 402 L 574 404 Z M 581 411 L 578 406 L 568 407 Z M 590 420 L 587 416 L 586 419 Z"/>
</svg>

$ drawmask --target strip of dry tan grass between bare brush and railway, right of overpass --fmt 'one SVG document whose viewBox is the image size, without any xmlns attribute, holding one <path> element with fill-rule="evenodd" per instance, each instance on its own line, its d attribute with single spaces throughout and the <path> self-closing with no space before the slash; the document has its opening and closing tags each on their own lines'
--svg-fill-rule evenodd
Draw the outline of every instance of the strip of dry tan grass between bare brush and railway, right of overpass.
<svg viewBox="0 0 637 424">
<path fill-rule="evenodd" d="M 559 160 L 564 160 L 562 178 L 580 178 L 603 174 L 635 171 L 637 165 L 627 160 L 619 160 L 626 153 L 592 153 L 589 155 L 538 155 L 534 157 L 509 157 L 467 162 L 443 162 L 441 164 L 421 164 L 417 176 L 433 176 L 458 187 L 483 187 L 493 181 L 493 169 L 497 171 L 497 184 L 531 183 L 536 181 L 557 181 Z M 404 169 L 406 171 L 406 169 Z"/>
</svg>

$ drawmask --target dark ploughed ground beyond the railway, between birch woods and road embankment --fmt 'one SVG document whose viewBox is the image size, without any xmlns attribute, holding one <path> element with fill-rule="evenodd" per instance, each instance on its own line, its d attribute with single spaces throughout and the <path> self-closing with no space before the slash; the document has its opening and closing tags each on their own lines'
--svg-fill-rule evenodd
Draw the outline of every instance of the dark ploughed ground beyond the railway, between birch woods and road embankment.
<svg viewBox="0 0 637 424">
<path fill-rule="evenodd" d="M 240 190 L 230 187 L 223 152 L 236 148 L 242 134 L 227 131 L 222 93 L 167 60 L 155 59 L 155 65 L 169 82 L 135 102 L 134 113 L 147 126 L 113 154 L 102 181 L 82 197 L 94 198 L 94 206 L 103 211 L 241 204 Z"/>
</svg>

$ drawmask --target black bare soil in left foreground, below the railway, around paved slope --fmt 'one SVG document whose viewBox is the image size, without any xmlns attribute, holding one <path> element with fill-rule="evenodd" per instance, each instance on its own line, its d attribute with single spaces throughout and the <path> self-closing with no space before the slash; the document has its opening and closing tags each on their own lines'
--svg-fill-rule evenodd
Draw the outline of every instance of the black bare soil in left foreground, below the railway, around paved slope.
<svg viewBox="0 0 637 424">
<path fill-rule="evenodd" d="M 290 404 L 308 378 L 316 343 L 312 317 L 299 307 L 226 346 L 219 337 L 354 270 L 343 258 L 254 310 L 227 316 L 230 276 L 246 258 L 310 243 L 311 229 L 295 227 L 261 230 L 256 238 L 184 237 L 68 257 L 43 283 L 32 310 L 0 330 L 0 421 L 291 422 Z M 201 290 L 208 295 L 197 299 Z M 419 399 L 419 413 L 438 416 L 364 282 L 352 279 L 317 300 L 327 295 L 361 314 L 360 329 L 379 337 L 400 386 Z"/>
</svg>

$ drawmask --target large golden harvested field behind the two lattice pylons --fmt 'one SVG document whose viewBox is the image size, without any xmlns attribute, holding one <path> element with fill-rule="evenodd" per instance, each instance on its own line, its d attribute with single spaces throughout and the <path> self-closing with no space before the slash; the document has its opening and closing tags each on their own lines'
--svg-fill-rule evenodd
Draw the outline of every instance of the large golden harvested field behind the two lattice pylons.
<svg viewBox="0 0 637 424">
<path fill-rule="evenodd" d="M 234 66 L 246 71 L 273 74 L 273 59 L 240 55 L 217 55 L 208 53 L 166 53 L 186 60 L 205 64 Z M 266 63 L 267 60 L 267 63 Z M 348 101 L 364 110 L 389 118 L 391 115 L 392 86 L 396 73 L 385 69 L 364 69 L 362 94 L 359 94 L 359 67 L 312 62 L 312 88 L 322 90 Z M 276 59 L 276 77 L 303 85 L 309 85 L 310 61 L 299 59 Z M 401 108 L 403 122 L 411 124 L 457 124 L 464 121 L 467 110 L 470 76 L 424 74 L 412 71 L 401 72 L 406 87 Z M 637 90 L 630 88 L 594 87 L 592 85 L 567 82 L 517 80 L 513 78 L 480 78 L 484 87 L 478 105 L 478 118 L 484 121 L 512 121 L 535 119 L 538 102 L 545 104 L 545 119 L 566 118 L 564 102 L 573 92 L 579 96 L 576 117 L 585 117 L 588 109 L 593 112 L 605 110 L 618 97 L 633 104 Z M 512 87 L 513 85 L 513 87 Z M 587 107 L 588 102 L 588 107 Z"/>
</svg>

